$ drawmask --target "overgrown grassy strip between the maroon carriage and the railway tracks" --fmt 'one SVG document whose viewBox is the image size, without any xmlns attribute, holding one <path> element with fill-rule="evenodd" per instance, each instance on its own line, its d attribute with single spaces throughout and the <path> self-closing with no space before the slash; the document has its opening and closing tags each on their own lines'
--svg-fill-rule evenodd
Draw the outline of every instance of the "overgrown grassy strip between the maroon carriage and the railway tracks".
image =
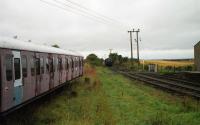
<svg viewBox="0 0 200 125">
<path fill-rule="evenodd" d="M 199 102 L 176 97 L 107 68 L 9 115 L 1 125 L 199 125 Z"/>
</svg>

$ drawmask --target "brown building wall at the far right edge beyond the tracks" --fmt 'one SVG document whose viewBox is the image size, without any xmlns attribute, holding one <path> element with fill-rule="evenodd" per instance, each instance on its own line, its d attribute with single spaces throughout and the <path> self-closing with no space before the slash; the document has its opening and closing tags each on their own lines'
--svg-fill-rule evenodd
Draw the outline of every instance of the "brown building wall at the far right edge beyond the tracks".
<svg viewBox="0 0 200 125">
<path fill-rule="evenodd" d="M 200 71 L 200 42 L 194 46 L 194 64 L 195 69 Z"/>
</svg>

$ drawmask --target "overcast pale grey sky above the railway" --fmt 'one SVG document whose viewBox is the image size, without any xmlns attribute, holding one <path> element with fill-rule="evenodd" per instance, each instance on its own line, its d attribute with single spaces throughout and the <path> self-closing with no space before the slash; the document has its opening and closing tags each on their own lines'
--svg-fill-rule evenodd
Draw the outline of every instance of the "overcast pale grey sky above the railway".
<svg viewBox="0 0 200 125">
<path fill-rule="evenodd" d="M 194 45 L 200 41 L 199 0 L 70 1 L 0 0 L 0 36 L 58 44 L 84 56 L 106 58 L 112 49 L 130 57 L 127 31 L 134 28 L 140 29 L 141 59 L 194 57 Z M 134 57 L 135 39 L 134 33 Z"/>
</svg>

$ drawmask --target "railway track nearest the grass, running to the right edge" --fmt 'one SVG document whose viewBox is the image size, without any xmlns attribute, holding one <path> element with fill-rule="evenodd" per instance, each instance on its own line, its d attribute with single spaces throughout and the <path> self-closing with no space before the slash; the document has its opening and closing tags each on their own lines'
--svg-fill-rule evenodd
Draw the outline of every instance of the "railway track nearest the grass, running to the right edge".
<svg viewBox="0 0 200 125">
<path fill-rule="evenodd" d="M 163 77 L 156 74 L 132 73 L 126 71 L 118 72 L 128 76 L 129 78 L 148 83 L 161 89 L 200 99 L 200 85 L 198 83 L 170 77 Z"/>
</svg>

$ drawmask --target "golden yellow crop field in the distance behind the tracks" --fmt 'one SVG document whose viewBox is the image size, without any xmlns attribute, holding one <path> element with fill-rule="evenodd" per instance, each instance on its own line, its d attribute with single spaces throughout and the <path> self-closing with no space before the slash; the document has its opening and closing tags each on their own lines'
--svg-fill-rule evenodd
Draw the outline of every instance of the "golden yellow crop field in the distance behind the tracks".
<svg viewBox="0 0 200 125">
<path fill-rule="evenodd" d="M 143 64 L 143 61 L 141 61 L 141 64 Z M 144 64 L 158 64 L 159 66 L 187 66 L 187 65 L 193 65 L 194 60 L 144 60 Z"/>
</svg>

